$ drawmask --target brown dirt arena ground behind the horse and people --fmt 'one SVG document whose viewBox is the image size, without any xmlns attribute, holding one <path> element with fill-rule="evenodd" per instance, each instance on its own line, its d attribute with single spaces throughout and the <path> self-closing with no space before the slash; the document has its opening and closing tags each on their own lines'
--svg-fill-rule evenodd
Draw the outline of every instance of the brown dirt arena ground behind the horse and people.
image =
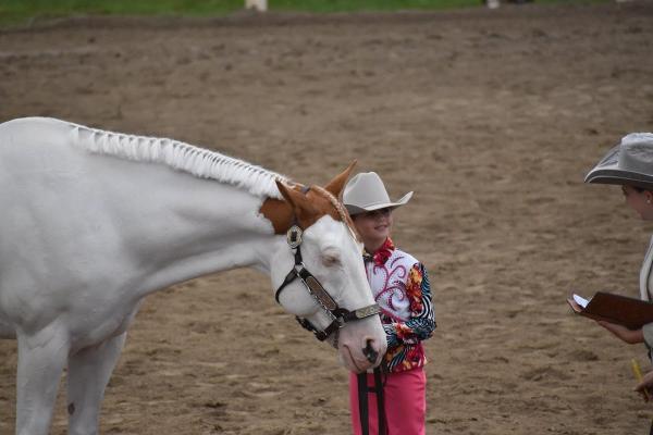
<svg viewBox="0 0 653 435">
<path fill-rule="evenodd" d="M 653 130 L 652 23 L 651 1 L 41 23 L 0 33 L 0 121 L 173 137 L 301 183 L 358 159 L 392 197 L 416 190 L 394 238 L 431 274 L 430 434 L 643 434 L 643 346 L 565 298 L 638 295 L 653 227 L 582 179 L 623 135 Z M 15 369 L 0 340 L 2 435 Z M 146 300 L 101 431 L 346 434 L 348 414 L 335 353 L 239 270 Z"/>
</svg>

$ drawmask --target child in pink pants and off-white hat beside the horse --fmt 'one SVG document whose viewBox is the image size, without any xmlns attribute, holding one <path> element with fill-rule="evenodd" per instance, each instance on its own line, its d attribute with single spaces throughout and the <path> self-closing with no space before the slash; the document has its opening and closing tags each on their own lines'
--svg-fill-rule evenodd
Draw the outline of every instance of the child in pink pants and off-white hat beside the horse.
<svg viewBox="0 0 653 435">
<path fill-rule="evenodd" d="M 435 328 L 429 277 L 423 264 L 408 252 L 395 247 L 391 238 L 393 210 L 406 204 L 412 192 L 391 201 L 381 177 L 374 172 L 360 173 L 345 186 L 343 203 L 365 245 L 364 260 L 375 301 L 381 307 L 381 320 L 387 336 L 387 352 L 383 359 L 383 401 L 381 420 L 377 397 L 367 395 L 362 420 L 369 422 L 369 434 L 426 434 L 426 386 L 423 366 L 427 363 L 422 340 Z M 374 375 L 367 374 L 374 386 Z M 365 385 L 362 385 L 365 388 Z M 381 388 L 381 385 L 378 385 Z M 359 412 L 359 385 L 356 374 L 349 378 L 349 399 L 354 434 L 362 433 Z M 367 411 L 367 412 L 366 412 Z M 367 413 L 368 415 L 365 415 Z M 366 419 L 366 417 L 368 417 Z"/>
</svg>

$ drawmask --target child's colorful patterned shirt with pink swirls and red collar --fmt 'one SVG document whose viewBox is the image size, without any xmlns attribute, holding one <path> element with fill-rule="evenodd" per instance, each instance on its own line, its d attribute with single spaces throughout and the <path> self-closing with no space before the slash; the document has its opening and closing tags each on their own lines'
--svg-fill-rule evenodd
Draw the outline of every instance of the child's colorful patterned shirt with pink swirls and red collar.
<svg viewBox="0 0 653 435">
<path fill-rule="evenodd" d="M 368 281 L 382 310 L 389 371 L 423 366 L 427 357 L 421 341 L 435 330 L 427 270 L 415 257 L 396 249 L 390 238 L 365 260 Z"/>
</svg>

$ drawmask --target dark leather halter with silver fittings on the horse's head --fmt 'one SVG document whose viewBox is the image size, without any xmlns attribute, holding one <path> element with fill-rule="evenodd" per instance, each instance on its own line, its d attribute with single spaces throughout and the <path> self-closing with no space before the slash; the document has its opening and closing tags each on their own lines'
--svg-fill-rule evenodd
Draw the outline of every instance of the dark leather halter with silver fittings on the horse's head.
<svg viewBox="0 0 653 435">
<path fill-rule="evenodd" d="M 304 194 L 306 194 L 308 188 L 305 188 L 303 190 Z M 359 308 L 355 311 L 349 311 L 345 308 L 338 307 L 336 301 L 333 300 L 331 295 L 329 295 L 329 291 L 324 289 L 324 287 L 322 286 L 322 284 L 320 284 L 318 278 L 316 278 L 313 274 L 310 273 L 304 264 L 300 249 L 303 234 L 303 229 L 296 223 L 293 224 L 286 233 L 286 240 L 288 243 L 288 246 L 291 247 L 291 249 L 294 250 L 295 264 L 286 275 L 283 283 L 281 283 L 279 288 L 276 289 L 276 294 L 274 295 L 276 302 L 280 303 L 279 297 L 281 296 L 281 291 L 296 278 L 299 278 L 299 281 L 301 281 L 304 286 L 308 289 L 310 296 L 313 297 L 313 299 L 318 302 L 320 308 L 331 319 L 331 324 L 326 326 L 323 331 L 319 331 L 307 319 L 296 316 L 297 322 L 299 322 L 299 324 L 304 328 L 312 332 L 316 338 L 320 341 L 325 340 L 331 334 L 337 332 L 348 322 L 362 320 L 381 313 L 381 308 L 378 303 L 372 303 L 371 306 Z"/>
</svg>

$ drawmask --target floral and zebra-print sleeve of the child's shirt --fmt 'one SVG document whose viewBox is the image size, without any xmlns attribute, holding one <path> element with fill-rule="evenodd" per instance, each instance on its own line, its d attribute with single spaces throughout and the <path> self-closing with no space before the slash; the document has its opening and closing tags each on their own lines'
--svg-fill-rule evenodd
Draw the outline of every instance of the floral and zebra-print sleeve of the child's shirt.
<svg viewBox="0 0 653 435">
<path fill-rule="evenodd" d="M 410 299 L 410 318 L 406 322 L 383 325 L 387 346 L 416 344 L 433 335 L 435 311 L 431 299 L 431 285 L 423 264 L 416 263 L 406 279 L 406 296 Z"/>
</svg>

